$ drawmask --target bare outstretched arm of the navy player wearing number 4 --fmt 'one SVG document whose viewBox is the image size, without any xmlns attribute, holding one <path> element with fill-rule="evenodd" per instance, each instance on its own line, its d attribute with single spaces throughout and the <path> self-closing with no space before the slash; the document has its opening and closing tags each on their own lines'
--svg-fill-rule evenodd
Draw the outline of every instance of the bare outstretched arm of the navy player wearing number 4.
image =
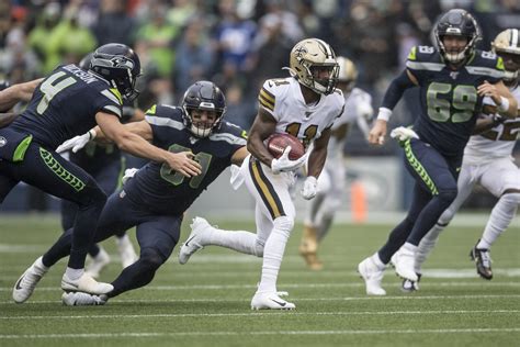
<svg viewBox="0 0 520 347">
<path fill-rule="evenodd" d="M 192 159 L 193 154 L 191 152 L 171 153 L 156 147 L 142 136 L 131 132 L 120 123 L 115 115 L 110 113 L 99 112 L 95 115 L 95 121 L 104 136 L 114 142 L 120 149 L 142 158 L 166 163 L 171 169 L 185 177 L 201 174 L 201 166 Z"/>
</svg>

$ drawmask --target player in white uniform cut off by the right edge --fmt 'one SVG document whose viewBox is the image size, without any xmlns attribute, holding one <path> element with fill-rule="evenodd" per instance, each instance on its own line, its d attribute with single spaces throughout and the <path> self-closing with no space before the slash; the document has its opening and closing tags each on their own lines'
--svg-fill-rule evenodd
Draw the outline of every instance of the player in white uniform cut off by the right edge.
<svg viewBox="0 0 520 347">
<path fill-rule="evenodd" d="M 520 31 L 508 29 L 491 43 L 493 51 L 504 59 L 504 83 L 520 102 Z M 493 103 L 493 101 L 489 101 Z M 511 223 L 520 204 L 520 170 L 513 164 L 511 153 L 520 134 L 520 110 L 516 119 L 496 117 L 493 128 L 471 137 L 464 149 L 464 159 L 459 176 L 459 193 L 453 203 L 441 215 L 437 225 L 422 238 L 415 261 L 415 271 L 420 278 L 421 266 L 434 247 L 440 232 L 450 223 L 476 183 L 481 183 L 498 198 L 484 233 L 471 250 L 477 273 L 493 278 L 489 249 Z M 404 291 L 418 290 L 417 282 L 403 281 Z"/>
</svg>

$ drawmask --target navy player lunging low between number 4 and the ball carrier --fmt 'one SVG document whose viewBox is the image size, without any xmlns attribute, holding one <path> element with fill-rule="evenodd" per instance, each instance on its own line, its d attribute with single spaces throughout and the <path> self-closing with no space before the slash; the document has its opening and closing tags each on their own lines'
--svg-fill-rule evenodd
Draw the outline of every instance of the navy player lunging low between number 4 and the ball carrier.
<svg viewBox="0 0 520 347">
<path fill-rule="evenodd" d="M 246 132 L 221 122 L 224 111 L 221 89 L 210 81 L 199 81 L 184 93 L 182 107 L 154 105 L 144 121 L 124 125 L 169 152 L 191 152 L 202 172 L 186 178 L 162 163 L 149 161 L 122 190 L 114 192 L 101 213 L 94 240 L 101 242 L 137 226 L 139 259 L 121 272 L 106 295 L 66 292 L 63 294 L 65 304 L 103 304 L 108 298 L 146 286 L 154 279 L 179 240 L 188 208 L 224 169 L 231 164 L 240 165 L 248 155 Z M 97 133 L 98 137 L 103 136 Z M 64 146 L 72 148 L 81 139 L 71 139 Z M 71 238 L 72 230 L 69 230 L 42 257 L 46 269 L 70 253 Z"/>
</svg>

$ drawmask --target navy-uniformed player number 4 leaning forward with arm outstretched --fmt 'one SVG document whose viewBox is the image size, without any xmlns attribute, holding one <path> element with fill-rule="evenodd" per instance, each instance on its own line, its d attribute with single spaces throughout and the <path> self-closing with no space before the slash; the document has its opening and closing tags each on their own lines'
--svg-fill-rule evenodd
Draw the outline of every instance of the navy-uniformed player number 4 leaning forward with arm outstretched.
<svg viewBox="0 0 520 347">
<path fill-rule="evenodd" d="M 165 164 L 181 177 L 201 174 L 191 154 L 156 147 L 120 123 L 123 99 L 135 98 L 139 74 L 134 51 L 122 44 L 101 46 L 88 71 L 74 64 L 57 67 L 34 91 L 25 111 L 0 130 L 0 202 L 23 181 L 79 205 L 61 279 L 65 291 L 103 294 L 113 287 L 97 282 L 83 270 L 106 195 L 90 175 L 55 152 L 59 144 L 98 124 L 121 149 Z M 24 302 L 46 270 L 37 259 L 16 281 L 14 301 Z"/>
</svg>

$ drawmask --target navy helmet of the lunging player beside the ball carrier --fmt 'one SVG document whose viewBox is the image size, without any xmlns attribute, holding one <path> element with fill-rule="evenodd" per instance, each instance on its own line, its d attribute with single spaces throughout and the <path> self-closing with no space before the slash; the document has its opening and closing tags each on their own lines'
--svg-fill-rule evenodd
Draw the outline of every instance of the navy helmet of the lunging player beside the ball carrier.
<svg viewBox="0 0 520 347">
<path fill-rule="evenodd" d="M 226 98 L 222 90 L 210 81 L 196 81 L 184 93 L 182 99 L 184 109 L 184 125 L 197 137 L 207 137 L 221 124 L 221 119 L 226 111 Z M 215 122 L 206 126 L 193 122 L 193 110 L 214 111 L 217 115 Z"/>
</svg>

